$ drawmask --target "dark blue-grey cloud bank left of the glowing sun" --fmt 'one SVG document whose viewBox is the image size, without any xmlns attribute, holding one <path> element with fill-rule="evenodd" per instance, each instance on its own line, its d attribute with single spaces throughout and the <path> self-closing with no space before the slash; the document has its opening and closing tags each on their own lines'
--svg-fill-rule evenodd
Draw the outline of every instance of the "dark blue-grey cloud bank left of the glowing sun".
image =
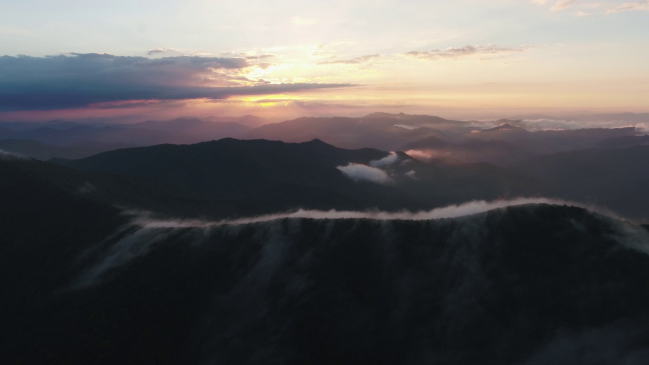
<svg viewBox="0 0 649 365">
<path fill-rule="evenodd" d="M 124 57 L 71 53 L 0 57 L 0 111 L 51 110 L 133 100 L 224 99 L 350 84 L 258 84 L 212 87 L 227 71 L 255 67 L 243 58 Z"/>
</svg>

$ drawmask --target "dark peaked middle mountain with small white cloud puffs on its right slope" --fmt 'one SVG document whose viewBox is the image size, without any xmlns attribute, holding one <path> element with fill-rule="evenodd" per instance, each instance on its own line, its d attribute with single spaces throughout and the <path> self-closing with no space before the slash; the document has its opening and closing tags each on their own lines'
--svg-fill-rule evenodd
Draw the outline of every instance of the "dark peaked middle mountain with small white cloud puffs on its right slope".
<svg viewBox="0 0 649 365">
<path fill-rule="evenodd" d="M 284 209 L 423 209 L 539 190 L 531 179 L 489 164 L 424 164 L 405 153 L 339 149 L 320 140 L 287 144 L 225 138 L 54 162 L 141 177 L 219 199 L 258 199 Z"/>
</svg>

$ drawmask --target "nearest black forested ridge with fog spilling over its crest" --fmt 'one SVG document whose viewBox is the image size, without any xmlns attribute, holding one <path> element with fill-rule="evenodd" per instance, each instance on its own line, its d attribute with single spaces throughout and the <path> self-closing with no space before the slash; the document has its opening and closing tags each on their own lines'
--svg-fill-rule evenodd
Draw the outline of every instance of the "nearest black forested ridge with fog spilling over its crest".
<svg viewBox="0 0 649 365">
<path fill-rule="evenodd" d="M 0 212 L 29 222 L 0 231 L 10 364 L 649 359 L 648 233 L 582 208 L 110 234 L 114 210 L 31 187 Z"/>
</svg>

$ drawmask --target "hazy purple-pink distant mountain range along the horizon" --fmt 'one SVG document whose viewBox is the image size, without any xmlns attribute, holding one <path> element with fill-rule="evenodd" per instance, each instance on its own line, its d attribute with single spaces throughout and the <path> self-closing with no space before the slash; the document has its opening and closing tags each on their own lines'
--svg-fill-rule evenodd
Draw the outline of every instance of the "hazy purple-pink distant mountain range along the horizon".
<svg viewBox="0 0 649 365">
<path fill-rule="evenodd" d="M 642 117 L 637 115 L 637 118 Z M 264 124 L 260 125 L 262 123 Z M 498 120 L 489 123 L 384 112 L 368 114 L 362 118 L 298 118 L 280 123 L 269 123 L 255 116 L 176 118 L 128 124 L 110 124 L 108 121 L 80 124 L 53 120 L 47 123 L 4 123 L 5 127 L 0 127 L 3 128 L 0 129 L 0 140 L 31 140 L 47 145 L 69 147 L 66 151 L 47 147 L 51 153 L 43 154 L 43 148 L 19 146 L 13 142 L 16 147 L 8 149 L 10 152 L 23 153 L 30 157 L 47 155 L 78 158 L 89 156 L 87 150 L 78 147 L 80 144 L 135 146 L 164 143 L 195 144 L 221 138 L 284 142 L 308 142 L 319 139 L 347 149 L 366 147 L 384 151 L 414 149 L 420 158 L 429 160 L 434 157 L 468 163 L 489 162 L 498 166 L 511 166 L 532 156 L 602 147 L 607 143 L 615 144 L 615 142 L 604 141 L 615 141 L 617 138 L 625 141 L 617 142 L 625 144 L 624 147 L 643 144 L 640 138 L 636 138 L 642 133 L 635 127 L 528 131 L 521 120 Z M 489 125 L 495 126 L 489 128 Z M 585 124 L 586 127 L 588 125 Z"/>
</svg>

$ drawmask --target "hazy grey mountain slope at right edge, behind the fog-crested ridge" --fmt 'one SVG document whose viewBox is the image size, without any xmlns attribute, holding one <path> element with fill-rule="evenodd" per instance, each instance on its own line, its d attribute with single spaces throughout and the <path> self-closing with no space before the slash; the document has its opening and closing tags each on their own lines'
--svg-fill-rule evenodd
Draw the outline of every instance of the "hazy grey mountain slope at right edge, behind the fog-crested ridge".
<svg viewBox="0 0 649 365">
<path fill-rule="evenodd" d="M 649 146 L 544 155 L 522 162 L 519 169 L 548 184 L 547 194 L 649 218 Z"/>
</svg>

